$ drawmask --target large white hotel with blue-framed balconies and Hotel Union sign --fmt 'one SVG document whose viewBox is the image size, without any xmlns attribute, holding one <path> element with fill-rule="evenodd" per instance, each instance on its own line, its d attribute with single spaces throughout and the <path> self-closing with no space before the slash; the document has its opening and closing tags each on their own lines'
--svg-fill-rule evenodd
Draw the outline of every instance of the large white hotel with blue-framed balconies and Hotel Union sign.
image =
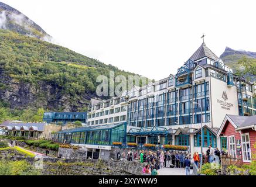
<svg viewBox="0 0 256 187">
<path fill-rule="evenodd" d="M 91 99 L 87 126 L 127 122 L 127 142 L 188 146 L 203 151 L 217 140 L 224 117 L 256 115 L 255 86 L 233 74 L 203 43 L 176 75 L 143 87 L 134 86 L 120 97 Z"/>
</svg>

